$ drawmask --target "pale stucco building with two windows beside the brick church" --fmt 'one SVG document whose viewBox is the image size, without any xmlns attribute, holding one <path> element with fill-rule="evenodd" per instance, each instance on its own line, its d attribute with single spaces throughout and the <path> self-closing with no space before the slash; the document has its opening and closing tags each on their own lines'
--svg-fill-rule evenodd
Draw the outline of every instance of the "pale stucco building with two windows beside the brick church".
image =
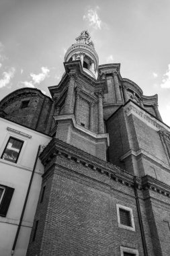
<svg viewBox="0 0 170 256">
<path fill-rule="evenodd" d="M 0 255 L 24 256 L 44 172 L 38 149 L 51 137 L 3 118 L 0 127 Z"/>
</svg>

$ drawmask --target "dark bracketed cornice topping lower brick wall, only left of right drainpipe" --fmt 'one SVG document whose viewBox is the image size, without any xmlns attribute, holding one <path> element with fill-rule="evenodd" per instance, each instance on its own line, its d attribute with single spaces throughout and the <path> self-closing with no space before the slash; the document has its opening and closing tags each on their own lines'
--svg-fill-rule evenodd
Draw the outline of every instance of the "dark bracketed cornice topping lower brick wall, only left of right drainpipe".
<svg viewBox="0 0 170 256">
<path fill-rule="evenodd" d="M 100 172 L 101 174 L 105 175 L 105 177 L 112 178 L 114 181 L 118 181 L 124 185 L 127 185 L 128 187 L 131 187 L 133 184 L 133 176 L 125 170 L 122 170 L 114 164 L 110 164 L 109 162 L 96 158 L 87 152 L 83 152 L 83 150 L 75 148 L 74 146 L 71 146 L 56 138 L 53 138 L 40 154 L 40 160 L 44 166 L 46 166 L 46 170 L 50 168 L 50 164 L 48 163 L 50 163 L 52 158 L 54 158 L 57 154 L 69 160 L 74 160 L 74 162 L 77 162 L 77 164 L 82 164 L 83 166 L 91 168 L 96 172 Z"/>
</svg>

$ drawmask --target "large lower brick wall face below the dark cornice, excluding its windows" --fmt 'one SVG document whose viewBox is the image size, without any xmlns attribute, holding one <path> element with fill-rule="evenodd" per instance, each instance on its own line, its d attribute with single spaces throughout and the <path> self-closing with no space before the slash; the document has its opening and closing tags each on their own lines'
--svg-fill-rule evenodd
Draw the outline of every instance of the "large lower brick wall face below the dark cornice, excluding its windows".
<svg viewBox="0 0 170 256">
<path fill-rule="evenodd" d="M 50 195 L 44 204 L 48 210 L 39 203 L 35 220 L 40 215 L 43 218 L 38 241 L 30 240 L 28 255 L 118 256 L 120 246 L 138 249 L 139 255 L 144 255 L 134 190 L 62 157 L 54 162 L 44 176 L 44 181 L 48 177 L 52 181 L 46 182 Z M 116 203 L 132 208 L 135 232 L 118 227 Z M 149 255 L 153 256 L 145 210 L 142 214 Z"/>
</svg>

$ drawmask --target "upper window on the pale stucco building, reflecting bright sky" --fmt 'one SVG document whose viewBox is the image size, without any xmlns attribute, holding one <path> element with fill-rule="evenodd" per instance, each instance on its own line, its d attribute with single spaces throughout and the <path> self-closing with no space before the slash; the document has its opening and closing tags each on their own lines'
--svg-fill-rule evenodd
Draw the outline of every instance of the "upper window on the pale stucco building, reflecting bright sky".
<svg viewBox="0 0 170 256">
<path fill-rule="evenodd" d="M 9 137 L 1 158 L 9 162 L 17 162 L 23 143 L 24 141 L 15 139 L 14 137 Z"/>
</svg>

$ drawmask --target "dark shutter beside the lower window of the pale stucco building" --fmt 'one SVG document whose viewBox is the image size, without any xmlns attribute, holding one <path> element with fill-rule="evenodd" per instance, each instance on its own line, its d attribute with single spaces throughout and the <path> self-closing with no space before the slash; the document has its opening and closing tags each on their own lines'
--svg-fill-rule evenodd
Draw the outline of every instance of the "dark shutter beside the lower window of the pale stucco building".
<svg viewBox="0 0 170 256">
<path fill-rule="evenodd" d="M 7 215 L 7 210 L 9 208 L 9 204 L 11 203 L 13 191 L 13 188 L 5 187 L 5 194 L 3 195 L 3 199 L 0 205 L 0 216 L 2 217 L 5 217 Z"/>
</svg>

